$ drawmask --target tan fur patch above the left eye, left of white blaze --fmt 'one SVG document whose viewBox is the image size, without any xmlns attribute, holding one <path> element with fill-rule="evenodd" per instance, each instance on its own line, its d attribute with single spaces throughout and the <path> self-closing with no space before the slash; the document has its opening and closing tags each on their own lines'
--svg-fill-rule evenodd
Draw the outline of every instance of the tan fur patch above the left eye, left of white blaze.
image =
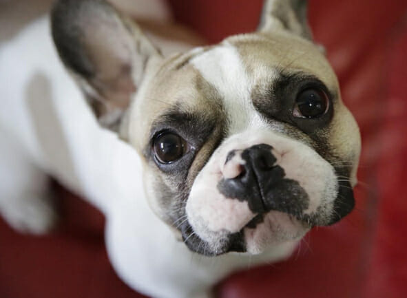
<svg viewBox="0 0 407 298">
<path fill-rule="evenodd" d="M 216 89 L 189 63 L 192 56 L 205 51 L 197 48 L 168 57 L 145 78 L 129 109 L 129 141 L 136 148 L 145 145 L 157 123 L 182 120 L 187 114 L 201 120 L 213 118 L 221 109 Z"/>
</svg>

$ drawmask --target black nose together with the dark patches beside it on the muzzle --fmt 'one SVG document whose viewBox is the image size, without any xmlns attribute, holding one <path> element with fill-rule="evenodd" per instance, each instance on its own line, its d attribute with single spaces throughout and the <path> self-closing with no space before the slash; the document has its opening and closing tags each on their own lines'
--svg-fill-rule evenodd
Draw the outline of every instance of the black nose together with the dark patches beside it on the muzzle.
<svg viewBox="0 0 407 298">
<path fill-rule="evenodd" d="M 295 180 L 284 178 L 284 169 L 275 164 L 273 147 L 254 145 L 241 153 L 240 173 L 234 178 L 220 180 L 218 189 L 226 198 L 247 201 L 249 209 L 256 214 L 271 210 L 282 211 L 300 217 L 309 205 L 304 189 Z M 231 151 L 227 162 L 236 154 Z"/>
</svg>

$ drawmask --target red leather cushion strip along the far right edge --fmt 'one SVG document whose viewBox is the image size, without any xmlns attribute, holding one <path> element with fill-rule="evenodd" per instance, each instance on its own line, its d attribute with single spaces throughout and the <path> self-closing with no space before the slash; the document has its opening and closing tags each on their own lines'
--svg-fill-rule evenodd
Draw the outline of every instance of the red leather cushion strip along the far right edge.
<svg viewBox="0 0 407 298">
<path fill-rule="evenodd" d="M 407 18 L 388 47 L 384 125 L 379 129 L 379 208 L 366 297 L 404 297 L 407 286 Z"/>
</svg>

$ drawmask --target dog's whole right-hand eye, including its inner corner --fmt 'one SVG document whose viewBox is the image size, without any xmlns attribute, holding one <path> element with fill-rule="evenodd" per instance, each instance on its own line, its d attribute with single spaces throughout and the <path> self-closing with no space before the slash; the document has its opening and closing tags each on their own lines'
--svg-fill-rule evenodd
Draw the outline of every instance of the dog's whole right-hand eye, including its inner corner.
<svg viewBox="0 0 407 298">
<path fill-rule="evenodd" d="M 305 89 L 295 100 L 293 115 L 298 118 L 317 118 L 328 111 L 328 95 L 322 89 Z"/>
</svg>

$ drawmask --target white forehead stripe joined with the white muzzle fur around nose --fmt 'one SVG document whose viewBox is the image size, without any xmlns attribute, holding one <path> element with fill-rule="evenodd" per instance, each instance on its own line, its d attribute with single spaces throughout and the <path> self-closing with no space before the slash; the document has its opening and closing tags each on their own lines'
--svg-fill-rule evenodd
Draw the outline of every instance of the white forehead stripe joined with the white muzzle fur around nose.
<svg viewBox="0 0 407 298">
<path fill-rule="evenodd" d="M 197 56 L 191 63 L 220 92 L 231 136 L 216 149 L 191 188 L 186 210 L 194 232 L 216 251 L 220 240 L 226 237 L 225 233 L 240 231 L 255 216 L 247 202 L 225 198 L 217 185 L 222 178 L 233 178 L 240 171 L 241 161 L 238 158 L 225 165 L 230 151 L 241 152 L 259 144 L 273 147 L 273 155 L 284 169 L 286 178 L 298 181 L 309 195 L 309 209 L 304 214 L 313 214 L 320 207 L 320 213 L 328 221 L 338 190 L 335 170 L 309 146 L 279 134 L 278 125 L 271 127 L 255 110 L 251 92 L 256 78 L 249 76 L 236 48 L 226 41 L 222 46 Z M 286 220 L 289 215 L 271 212 L 259 229 L 247 231 L 249 229 L 244 228 L 249 252 L 258 253 L 276 242 L 298 240 L 309 230 L 309 226 L 300 224 L 298 220 L 286 226 L 280 222 L 277 228 L 275 224 L 278 221 L 275 219 L 282 217 L 282 222 L 289 222 Z M 267 233 L 264 226 L 270 222 L 275 224 L 273 227 L 268 225 Z M 298 231 L 293 231 L 295 228 Z"/>
</svg>

